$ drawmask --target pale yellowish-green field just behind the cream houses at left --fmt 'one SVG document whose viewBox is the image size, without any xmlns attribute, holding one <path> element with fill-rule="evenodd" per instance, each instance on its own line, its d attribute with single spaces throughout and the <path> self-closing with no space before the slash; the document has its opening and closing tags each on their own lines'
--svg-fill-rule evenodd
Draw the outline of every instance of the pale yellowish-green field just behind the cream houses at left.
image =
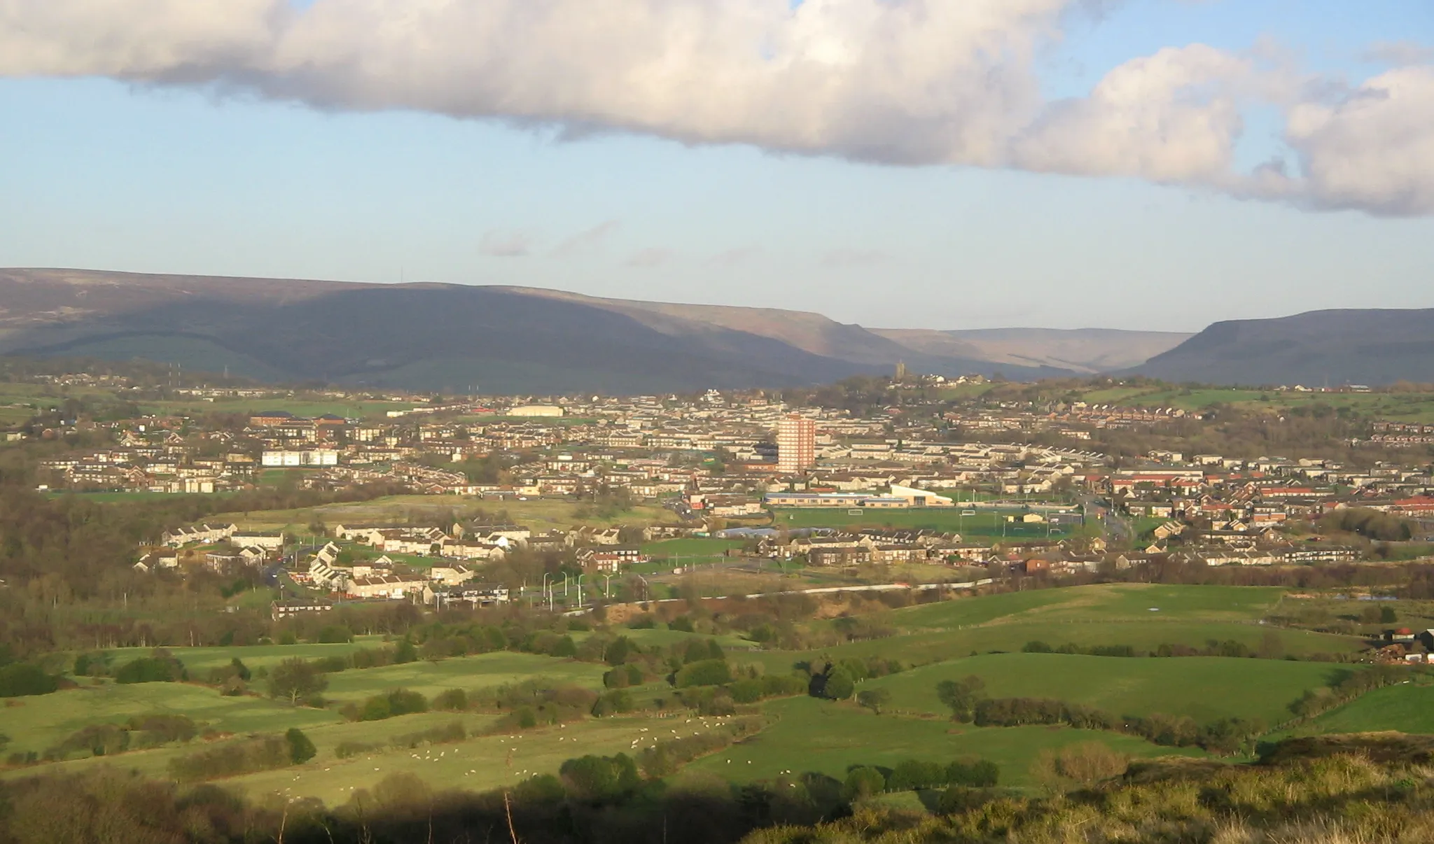
<svg viewBox="0 0 1434 844">
<path fill-rule="evenodd" d="M 677 516 L 671 510 L 654 506 L 638 506 L 611 519 L 574 516 L 581 503 L 554 499 L 531 499 L 526 502 L 485 502 L 460 496 L 389 496 L 371 502 L 346 504 L 324 504 L 293 510 L 255 510 L 251 513 L 219 513 L 209 522 L 234 522 L 252 530 L 305 530 L 315 519 L 326 524 L 406 524 L 413 520 L 435 517 L 473 517 L 479 510 L 486 513 L 506 512 L 508 517 L 535 530 L 552 527 L 569 529 L 574 524 L 674 524 Z"/>
</svg>

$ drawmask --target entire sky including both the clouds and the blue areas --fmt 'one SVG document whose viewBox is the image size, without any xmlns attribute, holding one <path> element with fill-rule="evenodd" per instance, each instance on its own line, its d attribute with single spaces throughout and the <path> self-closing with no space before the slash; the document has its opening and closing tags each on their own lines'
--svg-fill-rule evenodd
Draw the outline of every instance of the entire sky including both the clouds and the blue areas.
<svg viewBox="0 0 1434 844">
<path fill-rule="evenodd" d="M 1428 308 L 1434 0 L 0 0 L 0 265 Z"/>
</svg>

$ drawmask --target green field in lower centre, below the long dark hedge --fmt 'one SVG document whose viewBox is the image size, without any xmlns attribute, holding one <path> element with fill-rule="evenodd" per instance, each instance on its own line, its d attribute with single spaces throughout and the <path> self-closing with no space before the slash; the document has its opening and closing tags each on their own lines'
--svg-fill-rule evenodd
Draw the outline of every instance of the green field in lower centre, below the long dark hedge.
<svg viewBox="0 0 1434 844">
<path fill-rule="evenodd" d="M 991 759 L 1001 767 L 1004 785 L 1031 787 L 1031 762 L 1047 748 L 1100 741 L 1133 757 L 1199 751 L 1156 747 L 1129 735 L 1064 726 L 978 728 L 945 719 L 872 715 L 850 704 L 816 698 L 787 698 L 767 704 L 777 721 L 760 734 L 694 762 L 734 782 L 776 778 L 784 771 L 820 772 L 845 778 L 852 765 L 895 765 L 902 759 L 949 762 L 961 757 Z"/>
</svg>

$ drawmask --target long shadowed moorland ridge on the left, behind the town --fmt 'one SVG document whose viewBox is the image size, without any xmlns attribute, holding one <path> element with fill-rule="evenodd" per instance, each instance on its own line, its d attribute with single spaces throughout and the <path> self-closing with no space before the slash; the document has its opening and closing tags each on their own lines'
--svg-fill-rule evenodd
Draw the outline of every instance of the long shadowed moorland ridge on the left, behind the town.
<svg viewBox="0 0 1434 844">
<path fill-rule="evenodd" d="M 784 387 L 888 373 L 1071 374 L 770 308 L 446 284 L 0 269 L 0 354 L 485 393 Z"/>
</svg>

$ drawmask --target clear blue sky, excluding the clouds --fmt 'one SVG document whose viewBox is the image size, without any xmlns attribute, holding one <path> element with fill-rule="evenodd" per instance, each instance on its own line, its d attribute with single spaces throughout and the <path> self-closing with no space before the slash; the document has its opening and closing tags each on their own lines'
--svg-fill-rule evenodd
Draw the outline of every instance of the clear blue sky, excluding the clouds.
<svg viewBox="0 0 1434 844">
<path fill-rule="evenodd" d="M 1106 6 L 1067 11 L 1060 42 L 1040 46 L 1048 100 L 1087 97 L 1164 47 L 1278 53 L 1321 85 L 1358 86 L 1388 70 L 1371 44 L 1434 44 L 1434 6 L 1410 0 L 1358 14 L 1334 0 Z M 845 142 L 793 152 L 601 120 L 562 139 L 554 120 L 324 107 L 219 73 L 199 86 L 129 69 L 0 75 L 7 267 L 515 284 L 872 327 L 1199 330 L 1434 307 L 1434 219 L 1381 199 L 1248 198 L 1207 173 L 1162 183 L 1094 165 L 868 163 Z M 1298 163 L 1288 107 L 1242 103 L 1236 171 Z"/>
</svg>

